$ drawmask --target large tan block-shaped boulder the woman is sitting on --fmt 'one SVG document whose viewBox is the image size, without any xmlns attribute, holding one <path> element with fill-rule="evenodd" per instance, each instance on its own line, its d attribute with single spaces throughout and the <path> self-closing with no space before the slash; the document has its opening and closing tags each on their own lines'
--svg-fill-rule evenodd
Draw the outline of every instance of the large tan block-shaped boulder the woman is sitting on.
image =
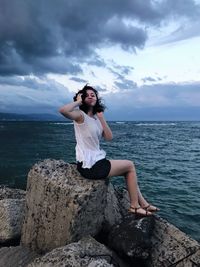
<svg viewBox="0 0 200 267">
<path fill-rule="evenodd" d="M 87 180 L 76 166 L 44 160 L 28 174 L 21 244 L 46 252 L 96 235 L 102 227 L 107 186 Z"/>
</svg>

